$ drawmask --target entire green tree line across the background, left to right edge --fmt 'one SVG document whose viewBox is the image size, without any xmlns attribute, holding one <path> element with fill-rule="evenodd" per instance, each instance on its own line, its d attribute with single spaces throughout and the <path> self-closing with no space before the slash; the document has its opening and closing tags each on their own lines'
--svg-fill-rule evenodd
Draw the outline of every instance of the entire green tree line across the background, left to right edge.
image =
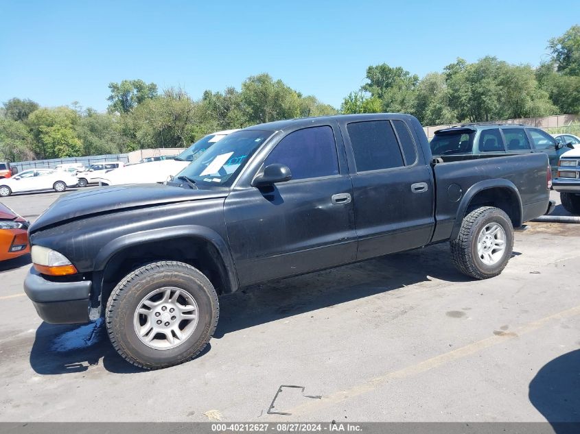
<svg viewBox="0 0 580 434">
<path fill-rule="evenodd" d="M 407 112 L 424 125 L 580 113 L 580 26 L 548 42 L 550 59 L 533 69 L 487 56 L 459 58 L 422 79 L 388 64 L 367 69 L 367 82 L 340 112 Z M 205 134 L 295 117 L 336 114 L 263 73 L 240 90 L 205 91 L 198 100 L 181 88 L 124 80 L 108 86 L 108 110 L 73 102 L 40 107 L 12 98 L 0 108 L 0 159 L 32 160 L 117 154 L 149 147 L 183 147 Z"/>
</svg>

